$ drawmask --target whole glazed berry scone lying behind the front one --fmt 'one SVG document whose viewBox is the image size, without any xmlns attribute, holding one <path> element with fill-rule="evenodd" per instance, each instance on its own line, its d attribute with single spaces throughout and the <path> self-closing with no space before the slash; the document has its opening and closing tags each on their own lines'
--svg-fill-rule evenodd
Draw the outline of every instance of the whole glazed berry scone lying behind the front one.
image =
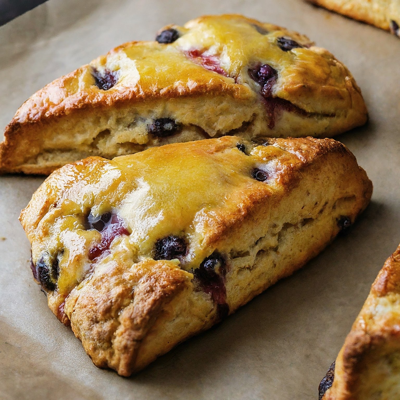
<svg viewBox="0 0 400 400">
<path fill-rule="evenodd" d="M 204 16 L 39 90 L 6 127 L 0 172 L 48 174 L 91 155 L 226 134 L 329 137 L 366 119 L 350 72 L 306 36 L 240 15 Z"/>
</svg>

